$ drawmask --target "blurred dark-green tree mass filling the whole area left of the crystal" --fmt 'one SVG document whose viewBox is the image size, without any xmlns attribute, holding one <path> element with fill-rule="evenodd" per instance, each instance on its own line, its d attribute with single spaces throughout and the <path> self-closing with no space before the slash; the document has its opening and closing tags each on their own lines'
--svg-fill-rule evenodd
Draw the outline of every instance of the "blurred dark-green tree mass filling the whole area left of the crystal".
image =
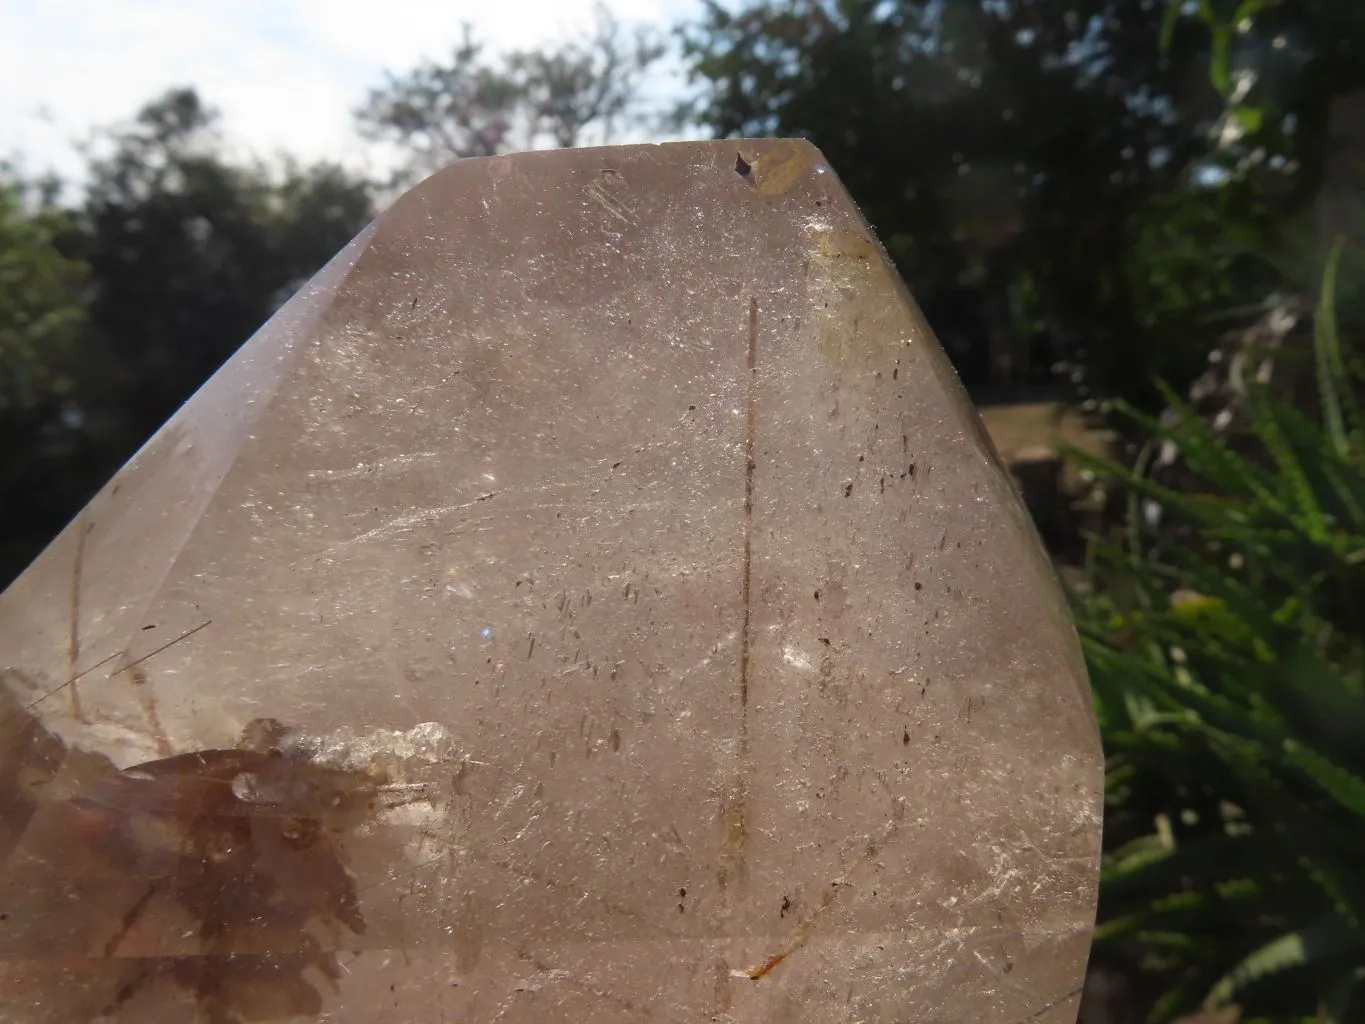
<svg viewBox="0 0 1365 1024">
<path fill-rule="evenodd" d="M 71 209 L 0 183 L 0 579 L 371 216 L 337 167 L 229 160 L 173 90 L 90 154 Z"/>
</svg>

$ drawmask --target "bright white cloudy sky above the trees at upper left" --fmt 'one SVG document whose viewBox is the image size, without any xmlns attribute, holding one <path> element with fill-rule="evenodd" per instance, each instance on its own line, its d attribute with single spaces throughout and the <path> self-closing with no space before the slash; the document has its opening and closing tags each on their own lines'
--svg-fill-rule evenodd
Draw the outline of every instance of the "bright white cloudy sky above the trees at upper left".
<svg viewBox="0 0 1365 1024">
<path fill-rule="evenodd" d="M 670 26 L 698 0 L 610 0 Z M 229 139 L 363 165 L 351 112 L 386 70 L 441 59 L 464 22 L 491 48 L 591 25 L 592 0 L 0 0 L 0 158 L 72 176 L 72 142 L 192 85 Z"/>
</svg>

